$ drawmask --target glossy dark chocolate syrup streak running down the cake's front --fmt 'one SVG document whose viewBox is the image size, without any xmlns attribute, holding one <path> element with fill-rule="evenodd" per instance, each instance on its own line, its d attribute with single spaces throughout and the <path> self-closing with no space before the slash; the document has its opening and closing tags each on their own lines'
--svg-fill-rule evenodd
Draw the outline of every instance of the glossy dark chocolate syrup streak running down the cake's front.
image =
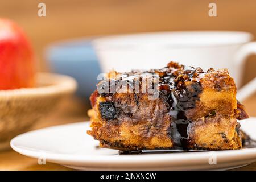
<svg viewBox="0 0 256 182">
<path fill-rule="evenodd" d="M 170 137 L 173 148 L 186 151 L 189 142 L 187 127 L 191 121 L 186 117 L 185 110 L 194 108 L 195 102 L 199 100 L 201 84 L 196 78 L 204 72 L 201 68 L 184 67 L 172 62 L 155 72 L 160 77 L 159 92 L 164 92 L 160 94 L 160 98 L 167 98 L 164 102 L 171 120 Z M 185 84 L 186 81 L 190 81 L 189 86 Z"/>
</svg>

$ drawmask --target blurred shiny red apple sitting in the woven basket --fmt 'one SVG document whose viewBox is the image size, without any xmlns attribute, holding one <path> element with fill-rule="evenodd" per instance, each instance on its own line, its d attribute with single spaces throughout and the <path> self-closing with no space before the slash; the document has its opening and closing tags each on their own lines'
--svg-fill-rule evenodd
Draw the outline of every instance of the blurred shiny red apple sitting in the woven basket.
<svg viewBox="0 0 256 182">
<path fill-rule="evenodd" d="M 35 86 L 35 57 L 23 30 L 0 19 L 0 90 Z"/>
</svg>

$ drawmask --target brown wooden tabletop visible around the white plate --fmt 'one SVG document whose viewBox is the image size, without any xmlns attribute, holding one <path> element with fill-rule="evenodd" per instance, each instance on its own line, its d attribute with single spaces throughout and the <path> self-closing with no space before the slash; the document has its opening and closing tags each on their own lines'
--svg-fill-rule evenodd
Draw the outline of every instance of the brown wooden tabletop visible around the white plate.
<svg viewBox="0 0 256 182">
<path fill-rule="evenodd" d="M 245 104 L 247 112 L 251 116 L 256 116 L 256 96 L 253 96 L 243 102 Z M 61 125 L 71 122 L 87 121 L 86 110 L 89 106 L 82 104 L 82 101 L 77 98 L 69 98 L 61 102 L 55 112 L 48 115 L 47 118 L 42 119 L 35 129 Z M 37 159 L 28 158 L 18 154 L 13 150 L 7 150 L 0 152 L 0 170 L 71 170 L 67 167 L 60 166 L 59 164 L 53 164 L 47 162 L 46 165 L 39 165 Z M 256 162 L 249 166 L 238 168 L 235 170 L 255 170 Z"/>
</svg>

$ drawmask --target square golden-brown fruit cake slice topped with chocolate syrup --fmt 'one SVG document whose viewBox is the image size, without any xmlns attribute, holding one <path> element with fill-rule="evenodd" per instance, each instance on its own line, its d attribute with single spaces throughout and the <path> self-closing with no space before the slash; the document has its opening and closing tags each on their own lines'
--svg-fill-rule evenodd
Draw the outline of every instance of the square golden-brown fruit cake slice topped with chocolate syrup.
<svg viewBox="0 0 256 182">
<path fill-rule="evenodd" d="M 92 130 L 87 133 L 100 141 L 100 147 L 123 151 L 242 148 L 237 119 L 248 115 L 236 100 L 236 84 L 227 69 L 204 72 L 170 62 L 163 69 L 112 71 L 99 82 L 90 101 Z"/>
</svg>

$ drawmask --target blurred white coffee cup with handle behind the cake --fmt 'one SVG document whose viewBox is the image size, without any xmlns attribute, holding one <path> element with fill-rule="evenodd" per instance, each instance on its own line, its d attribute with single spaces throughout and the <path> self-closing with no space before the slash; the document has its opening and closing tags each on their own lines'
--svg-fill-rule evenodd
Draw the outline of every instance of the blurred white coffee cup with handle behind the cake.
<svg viewBox="0 0 256 182">
<path fill-rule="evenodd" d="M 228 68 L 236 81 L 238 100 L 256 90 L 256 78 L 241 88 L 246 57 L 256 53 L 248 32 L 177 31 L 107 36 L 93 41 L 101 69 L 119 72 L 163 68 L 169 61 L 208 68 Z"/>
</svg>

